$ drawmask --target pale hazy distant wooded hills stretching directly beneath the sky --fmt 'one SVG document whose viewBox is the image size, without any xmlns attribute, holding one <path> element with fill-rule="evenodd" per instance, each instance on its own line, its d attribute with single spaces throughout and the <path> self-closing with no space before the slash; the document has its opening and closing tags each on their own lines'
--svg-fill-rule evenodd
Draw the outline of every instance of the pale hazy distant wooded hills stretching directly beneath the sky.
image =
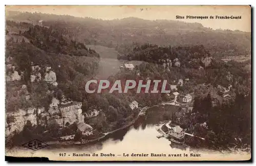
<svg viewBox="0 0 256 166">
<path fill-rule="evenodd" d="M 213 56 L 248 55 L 251 35 L 248 32 L 211 30 L 200 23 L 173 20 L 143 20 L 124 18 L 101 20 L 67 15 L 8 12 L 7 19 L 53 26 L 58 32 L 86 44 L 116 48 L 120 53 L 131 51 L 133 42 L 158 45 L 184 46 L 203 44 Z"/>
</svg>

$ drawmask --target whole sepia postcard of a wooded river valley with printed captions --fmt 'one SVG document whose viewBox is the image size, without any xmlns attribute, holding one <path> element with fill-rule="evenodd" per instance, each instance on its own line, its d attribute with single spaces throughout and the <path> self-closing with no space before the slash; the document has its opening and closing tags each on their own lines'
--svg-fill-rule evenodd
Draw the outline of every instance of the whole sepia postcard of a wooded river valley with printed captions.
<svg viewBox="0 0 256 166">
<path fill-rule="evenodd" d="M 6 160 L 251 160 L 251 6 L 5 6 Z"/>
</svg>

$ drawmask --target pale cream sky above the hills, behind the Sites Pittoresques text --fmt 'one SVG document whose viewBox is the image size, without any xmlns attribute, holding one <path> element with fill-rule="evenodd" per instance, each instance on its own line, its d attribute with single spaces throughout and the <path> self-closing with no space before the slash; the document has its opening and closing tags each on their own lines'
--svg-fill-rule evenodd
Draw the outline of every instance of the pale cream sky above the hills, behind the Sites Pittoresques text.
<svg viewBox="0 0 256 166">
<path fill-rule="evenodd" d="M 68 14 L 77 17 L 115 19 L 138 17 L 199 22 L 212 29 L 251 31 L 249 6 L 6 6 L 6 10 Z M 176 15 L 185 19 L 176 19 Z M 186 19 L 191 16 L 214 16 L 214 19 Z M 216 19 L 218 16 L 241 16 L 241 19 Z"/>
</svg>

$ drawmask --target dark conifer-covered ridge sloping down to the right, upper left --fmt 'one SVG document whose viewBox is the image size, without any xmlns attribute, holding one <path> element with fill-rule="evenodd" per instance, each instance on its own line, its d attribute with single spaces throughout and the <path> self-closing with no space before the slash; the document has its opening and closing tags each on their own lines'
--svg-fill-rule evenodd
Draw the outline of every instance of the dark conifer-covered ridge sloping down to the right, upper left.
<svg viewBox="0 0 256 166">
<path fill-rule="evenodd" d="M 9 27 L 24 27 L 28 30 L 19 32 L 18 35 L 23 35 L 30 40 L 30 43 L 37 46 L 39 49 L 49 53 L 60 53 L 71 56 L 91 56 L 100 57 L 94 50 L 88 49 L 84 43 L 76 40 L 71 40 L 66 37 L 61 31 L 57 31 L 52 27 L 42 27 L 30 23 L 16 23 L 14 21 L 7 21 L 6 25 Z M 7 34 L 8 34 L 7 30 Z"/>
</svg>

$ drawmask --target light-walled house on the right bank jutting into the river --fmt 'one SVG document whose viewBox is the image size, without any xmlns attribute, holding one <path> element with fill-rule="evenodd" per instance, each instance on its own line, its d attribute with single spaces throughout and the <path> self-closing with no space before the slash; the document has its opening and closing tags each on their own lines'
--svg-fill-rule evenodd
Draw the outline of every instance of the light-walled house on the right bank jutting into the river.
<svg viewBox="0 0 256 166">
<path fill-rule="evenodd" d="M 161 128 L 165 133 L 168 133 L 170 136 L 176 139 L 182 139 L 185 136 L 185 131 L 180 127 L 171 123 L 166 123 Z"/>
</svg>

